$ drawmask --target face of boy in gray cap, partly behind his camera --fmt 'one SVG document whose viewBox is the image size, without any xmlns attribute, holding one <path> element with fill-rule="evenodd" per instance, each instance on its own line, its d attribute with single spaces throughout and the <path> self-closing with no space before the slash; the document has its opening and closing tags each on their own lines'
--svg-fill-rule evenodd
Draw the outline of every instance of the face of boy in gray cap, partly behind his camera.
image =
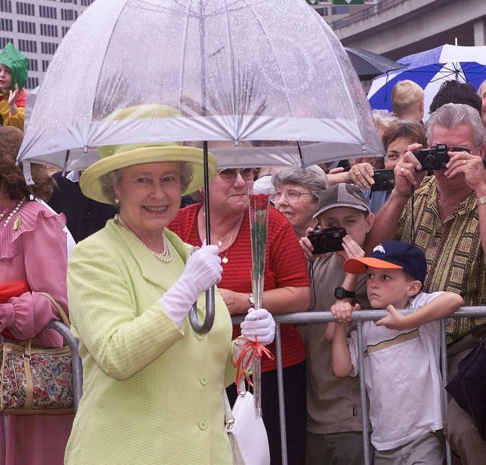
<svg viewBox="0 0 486 465">
<path fill-rule="evenodd" d="M 344 227 L 347 234 L 362 247 L 365 243 L 367 232 L 370 232 L 375 222 L 375 215 L 370 213 L 365 217 L 365 212 L 349 207 L 336 207 L 322 212 L 319 217 L 319 225 L 322 228 Z M 343 258 L 347 258 L 344 251 L 336 252 Z"/>
</svg>

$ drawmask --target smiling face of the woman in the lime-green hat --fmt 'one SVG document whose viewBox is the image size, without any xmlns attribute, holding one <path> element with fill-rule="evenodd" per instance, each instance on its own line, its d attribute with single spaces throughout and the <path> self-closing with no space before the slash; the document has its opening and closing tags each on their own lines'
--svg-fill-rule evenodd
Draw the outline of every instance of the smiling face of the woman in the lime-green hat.
<svg viewBox="0 0 486 465">
<path fill-rule="evenodd" d="M 178 162 L 132 165 L 113 190 L 120 201 L 120 218 L 145 244 L 158 240 L 181 205 Z"/>
</svg>

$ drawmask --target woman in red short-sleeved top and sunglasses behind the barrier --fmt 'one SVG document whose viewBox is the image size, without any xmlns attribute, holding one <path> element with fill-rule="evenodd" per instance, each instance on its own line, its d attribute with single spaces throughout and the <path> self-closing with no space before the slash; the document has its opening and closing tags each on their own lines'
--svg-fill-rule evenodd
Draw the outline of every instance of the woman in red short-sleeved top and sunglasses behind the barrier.
<svg viewBox="0 0 486 465">
<path fill-rule="evenodd" d="M 254 168 L 225 168 L 209 185 L 211 244 L 219 247 L 223 274 L 218 290 L 230 315 L 246 314 L 254 306 L 251 280 L 249 189 Z M 203 193 L 203 189 L 200 190 Z M 169 224 L 184 242 L 200 246 L 206 239 L 206 206 L 189 205 Z M 306 260 L 292 225 L 274 208 L 269 209 L 263 306 L 274 315 L 305 312 L 310 292 Z M 289 463 L 303 463 L 305 441 L 305 350 L 295 325 L 281 325 L 284 365 L 287 451 Z M 233 338 L 239 335 L 233 327 Z M 268 346 L 276 354 L 275 345 Z M 236 398 L 235 386 L 227 390 Z M 304 399 L 304 403 L 296 402 Z M 268 434 L 271 463 L 281 463 L 276 361 L 262 359 L 262 411 Z M 303 419 L 302 419 L 303 417 Z M 299 424 L 300 422 L 300 424 Z"/>
</svg>

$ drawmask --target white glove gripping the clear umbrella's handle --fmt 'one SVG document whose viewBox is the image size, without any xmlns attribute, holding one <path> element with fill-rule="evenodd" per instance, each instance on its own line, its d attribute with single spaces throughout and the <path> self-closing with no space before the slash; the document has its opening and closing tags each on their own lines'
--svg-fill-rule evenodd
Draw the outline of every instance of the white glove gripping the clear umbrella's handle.
<svg viewBox="0 0 486 465">
<path fill-rule="evenodd" d="M 177 326 L 182 325 L 197 297 L 221 281 L 219 248 L 205 244 L 188 258 L 181 277 L 160 297 L 160 304 Z"/>
</svg>

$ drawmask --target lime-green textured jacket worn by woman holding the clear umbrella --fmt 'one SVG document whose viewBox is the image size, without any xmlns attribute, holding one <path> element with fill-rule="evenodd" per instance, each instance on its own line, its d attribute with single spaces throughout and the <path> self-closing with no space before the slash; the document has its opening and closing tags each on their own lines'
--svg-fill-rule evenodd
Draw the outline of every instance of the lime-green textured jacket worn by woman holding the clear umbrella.
<svg viewBox="0 0 486 465">
<path fill-rule="evenodd" d="M 79 242 L 68 265 L 72 334 L 83 397 L 66 465 L 231 465 L 223 389 L 234 383 L 231 320 L 215 292 L 214 326 L 181 327 L 159 297 L 181 276 L 189 248 L 166 229 L 174 258 L 155 258 L 114 220 Z M 199 296 L 197 313 L 206 311 Z"/>
</svg>

